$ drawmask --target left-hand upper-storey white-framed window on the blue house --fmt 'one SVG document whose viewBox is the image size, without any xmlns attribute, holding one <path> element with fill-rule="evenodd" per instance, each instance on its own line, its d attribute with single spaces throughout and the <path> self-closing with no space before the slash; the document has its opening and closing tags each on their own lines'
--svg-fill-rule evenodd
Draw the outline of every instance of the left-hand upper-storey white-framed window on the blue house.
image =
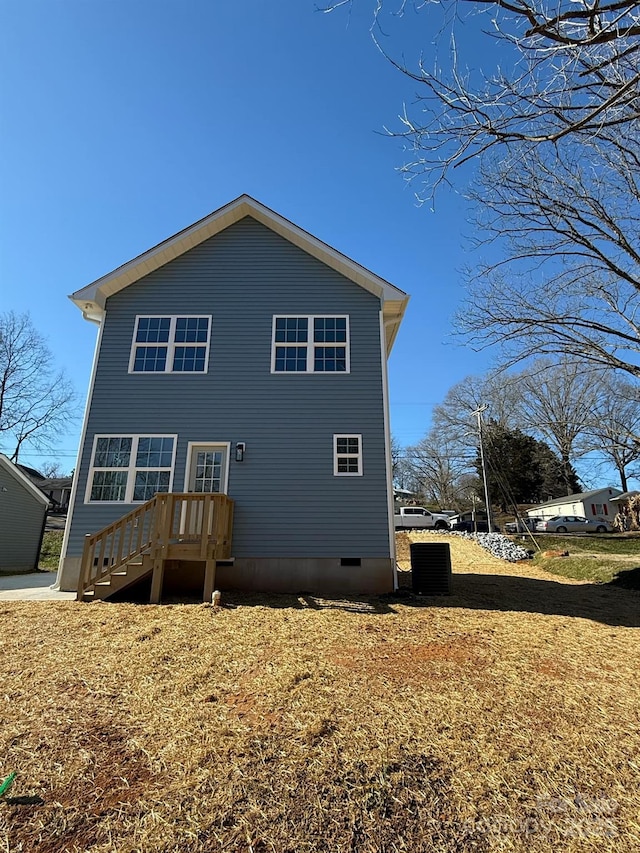
<svg viewBox="0 0 640 853">
<path fill-rule="evenodd" d="M 210 316 L 136 317 L 129 373 L 206 373 Z"/>
</svg>

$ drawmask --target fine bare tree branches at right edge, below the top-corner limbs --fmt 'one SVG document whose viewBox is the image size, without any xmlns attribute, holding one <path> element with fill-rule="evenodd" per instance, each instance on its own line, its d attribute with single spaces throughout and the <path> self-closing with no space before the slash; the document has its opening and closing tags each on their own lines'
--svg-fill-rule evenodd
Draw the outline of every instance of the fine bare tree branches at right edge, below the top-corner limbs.
<svg viewBox="0 0 640 853">
<path fill-rule="evenodd" d="M 458 327 L 499 344 L 640 376 L 640 126 L 599 140 L 485 162 L 472 191 L 477 233 L 498 260 L 469 275 Z"/>
</svg>

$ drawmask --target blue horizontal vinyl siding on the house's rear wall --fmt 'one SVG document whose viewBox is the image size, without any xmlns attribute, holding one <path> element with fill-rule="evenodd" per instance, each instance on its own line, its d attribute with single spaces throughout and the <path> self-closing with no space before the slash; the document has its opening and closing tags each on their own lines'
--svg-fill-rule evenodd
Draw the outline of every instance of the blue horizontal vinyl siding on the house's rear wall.
<svg viewBox="0 0 640 853">
<path fill-rule="evenodd" d="M 230 441 L 233 554 L 389 556 L 380 300 L 249 217 L 112 296 L 68 555 L 130 505 L 84 504 L 93 437 Z M 208 371 L 128 373 L 138 315 L 211 315 Z M 350 373 L 271 373 L 274 315 L 348 315 Z M 361 434 L 362 477 L 333 475 L 334 433 Z M 233 445 L 246 443 L 245 461 Z"/>
</svg>

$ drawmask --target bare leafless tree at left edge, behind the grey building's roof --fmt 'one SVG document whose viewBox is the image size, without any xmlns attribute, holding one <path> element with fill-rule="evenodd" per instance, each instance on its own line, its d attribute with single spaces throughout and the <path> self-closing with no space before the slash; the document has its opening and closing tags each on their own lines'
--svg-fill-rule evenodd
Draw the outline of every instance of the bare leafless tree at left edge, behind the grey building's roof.
<svg viewBox="0 0 640 853">
<path fill-rule="evenodd" d="M 28 314 L 0 315 L 0 445 L 50 449 L 75 417 L 76 395 Z"/>
</svg>

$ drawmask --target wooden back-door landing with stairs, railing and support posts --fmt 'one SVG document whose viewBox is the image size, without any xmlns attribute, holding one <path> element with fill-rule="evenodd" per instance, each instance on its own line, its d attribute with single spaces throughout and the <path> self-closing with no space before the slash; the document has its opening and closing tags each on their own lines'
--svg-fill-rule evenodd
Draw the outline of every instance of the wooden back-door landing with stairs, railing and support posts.
<svg viewBox="0 0 640 853">
<path fill-rule="evenodd" d="M 203 601 L 211 600 L 216 562 L 231 556 L 233 501 L 227 495 L 158 494 L 85 537 L 78 601 L 97 601 L 151 576 L 150 601 L 162 596 L 168 560 L 205 564 Z"/>
</svg>

